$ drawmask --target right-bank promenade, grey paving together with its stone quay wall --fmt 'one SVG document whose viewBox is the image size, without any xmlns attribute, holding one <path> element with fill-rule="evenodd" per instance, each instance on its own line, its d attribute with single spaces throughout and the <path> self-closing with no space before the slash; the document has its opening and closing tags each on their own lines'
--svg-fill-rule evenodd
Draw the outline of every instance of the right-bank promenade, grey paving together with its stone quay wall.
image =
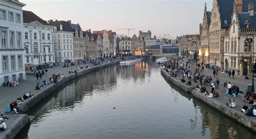
<svg viewBox="0 0 256 139">
<path fill-rule="evenodd" d="M 194 65 L 194 64 L 193 64 Z M 210 75 L 213 79 L 213 81 L 216 80 L 217 77 L 213 77 L 212 74 L 213 70 L 204 70 L 202 72 L 202 74 L 204 75 Z M 167 77 L 167 78 L 172 78 L 172 77 Z M 179 79 L 181 79 L 182 76 L 181 75 L 177 75 L 176 78 L 173 78 L 173 80 L 178 81 Z M 208 98 L 207 96 L 204 96 L 203 93 L 200 93 L 197 91 L 197 89 L 193 89 L 193 91 L 191 91 L 191 93 L 198 98 L 201 101 L 206 102 L 208 105 L 211 105 L 213 108 L 218 109 L 220 112 L 225 113 L 226 115 L 232 117 L 235 121 L 238 121 L 242 124 L 247 125 L 247 127 L 251 128 L 252 130 L 256 131 L 256 117 L 254 116 L 246 116 L 244 113 L 241 112 L 241 108 L 242 106 L 245 105 L 245 98 L 244 95 L 246 94 L 246 89 L 247 89 L 247 85 L 252 84 L 252 80 L 251 79 L 244 79 L 244 76 L 242 75 L 237 75 L 235 74 L 234 79 L 229 79 L 228 74 L 227 73 L 220 73 L 218 75 L 218 78 L 220 80 L 220 85 L 217 87 L 217 89 L 215 89 L 215 91 L 219 92 L 220 96 L 219 98 Z M 186 82 L 188 81 L 187 78 L 185 78 Z M 237 85 L 240 88 L 240 91 L 244 92 L 243 94 L 239 94 L 239 96 L 237 98 L 234 98 L 233 95 L 226 95 L 226 90 L 227 88 L 224 87 L 224 82 L 231 82 L 231 84 L 233 85 Z M 186 84 L 186 82 L 181 83 L 180 84 Z M 192 81 L 192 86 L 194 86 L 194 82 Z M 211 86 L 210 85 L 204 85 L 208 91 L 211 90 Z M 228 101 L 228 99 L 234 99 L 235 103 L 236 103 L 236 107 L 235 108 L 228 108 L 226 106 L 226 103 Z M 249 108 L 251 108 L 252 106 L 248 105 Z"/>
</svg>

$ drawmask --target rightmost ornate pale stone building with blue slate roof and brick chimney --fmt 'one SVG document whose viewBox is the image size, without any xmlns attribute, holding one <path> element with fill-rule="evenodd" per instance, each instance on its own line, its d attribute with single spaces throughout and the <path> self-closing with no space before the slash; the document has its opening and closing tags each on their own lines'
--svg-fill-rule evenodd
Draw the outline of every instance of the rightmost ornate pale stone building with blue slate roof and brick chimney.
<svg viewBox="0 0 256 139">
<path fill-rule="evenodd" d="M 256 8 L 255 1 L 236 1 L 230 31 L 225 37 L 224 68 L 251 76 L 256 69 Z M 240 2 L 240 3 L 239 3 Z M 254 2 L 254 3 L 252 3 Z M 241 8 L 242 5 L 242 8 Z"/>
</svg>

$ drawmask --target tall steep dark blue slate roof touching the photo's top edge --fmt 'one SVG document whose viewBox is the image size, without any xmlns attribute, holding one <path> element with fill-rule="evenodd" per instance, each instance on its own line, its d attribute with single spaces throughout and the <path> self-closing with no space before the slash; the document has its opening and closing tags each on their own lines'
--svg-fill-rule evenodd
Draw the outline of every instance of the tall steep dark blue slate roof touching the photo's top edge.
<svg viewBox="0 0 256 139">
<path fill-rule="evenodd" d="M 231 23 L 234 0 L 218 0 L 218 4 L 220 11 L 221 29 L 228 28 L 230 27 Z"/>
</svg>

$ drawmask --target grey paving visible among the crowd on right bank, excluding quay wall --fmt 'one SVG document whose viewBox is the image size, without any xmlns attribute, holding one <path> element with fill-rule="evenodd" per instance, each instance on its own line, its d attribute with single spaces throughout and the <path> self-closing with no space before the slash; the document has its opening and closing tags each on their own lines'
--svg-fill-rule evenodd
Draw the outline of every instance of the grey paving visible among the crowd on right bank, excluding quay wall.
<svg viewBox="0 0 256 139">
<path fill-rule="evenodd" d="M 195 65 L 195 64 L 193 64 L 193 65 Z M 217 77 L 213 77 L 213 74 L 212 74 L 213 70 L 208 70 L 208 69 L 206 70 L 205 69 L 201 73 L 204 74 L 204 75 L 210 75 L 212 77 L 213 81 L 215 81 L 216 78 L 217 78 Z M 181 79 L 182 76 L 177 75 L 176 78 Z M 224 105 L 228 102 L 228 99 L 234 99 L 236 107 L 231 108 L 231 109 L 233 109 L 233 110 L 235 110 L 235 112 L 241 113 L 241 114 L 242 114 L 241 108 L 242 108 L 242 106 L 245 105 L 245 103 L 247 103 L 249 108 L 252 107 L 252 106 L 249 105 L 248 102 L 245 102 L 245 98 L 244 98 L 244 95 L 246 94 L 246 90 L 247 90 L 247 85 L 252 84 L 251 79 L 245 79 L 244 76 L 237 75 L 237 73 L 235 73 L 234 79 L 232 78 L 232 75 L 231 75 L 231 79 L 229 79 L 229 76 L 228 76 L 227 73 L 220 73 L 220 72 L 219 72 L 218 78 L 220 80 L 220 85 L 215 89 L 215 91 L 217 91 L 220 96 L 218 98 L 212 98 L 212 99 L 215 99 L 215 100 L 219 101 L 219 103 L 224 104 Z M 187 78 L 185 80 L 186 80 L 186 82 L 188 81 Z M 240 91 L 242 91 L 244 93 L 242 93 L 242 94 L 239 93 L 237 98 L 234 98 L 233 95 L 226 95 L 227 88 L 224 87 L 224 82 L 225 81 L 230 82 L 232 85 L 233 84 L 237 85 L 239 87 Z M 183 84 L 186 84 L 186 82 L 184 82 Z M 192 82 L 192 85 L 194 85 L 193 80 L 191 80 L 191 82 Z M 211 91 L 211 85 L 204 85 L 204 86 L 206 87 L 207 91 Z M 253 117 L 253 116 L 247 116 L 247 117 L 249 117 L 250 119 L 252 119 L 253 121 L 256 122 L 256 117 Z"/>
</svg>

